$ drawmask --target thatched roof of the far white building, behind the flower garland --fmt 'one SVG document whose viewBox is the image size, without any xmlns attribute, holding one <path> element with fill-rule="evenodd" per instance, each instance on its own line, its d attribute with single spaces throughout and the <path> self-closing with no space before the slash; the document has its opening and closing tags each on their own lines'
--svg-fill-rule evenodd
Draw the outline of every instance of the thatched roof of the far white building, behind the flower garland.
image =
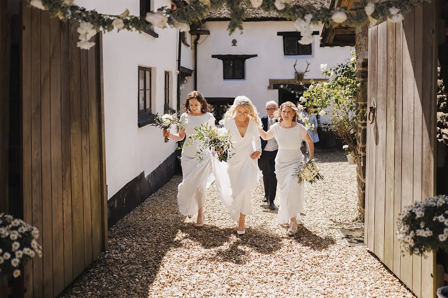
<svg viewBox="0 0 448 298">
<path fill-rule="evenodd" d="M 270 0 L 274 2 L 273 0 Z M 293 0 L 294 4 L 313 5 L 315 7 L 329 7 L 331 0 Z M 250 2 L 242 4 L 245 7 L 246 21 L 263 21 L 263 20 L 286 20 L 280 17 L 275 11 L 266 12 L 261 8 L 253 8 Z M 230 20 L 230 11 L 225 4 L 220 8 L 210 10 L 206 16 L 206 21 L 228 21 Z"/>
</svg>

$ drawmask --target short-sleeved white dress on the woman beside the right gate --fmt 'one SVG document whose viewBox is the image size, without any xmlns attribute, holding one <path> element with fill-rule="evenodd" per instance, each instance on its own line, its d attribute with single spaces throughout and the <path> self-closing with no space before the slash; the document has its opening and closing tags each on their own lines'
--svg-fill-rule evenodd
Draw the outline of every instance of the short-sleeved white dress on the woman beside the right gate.
<svg viewBox="0 0 448 298">
<path fill-rule="evenodd" d="M 305 157 L 300 150 L 302 140 L 307 135 L 307 129 L 300 123 L 292 128 L 282 128 L 279 123 L 271 126 L 278 152 L 275 157 L 275 175 L 277 176 L 280 192 L 280 207 L 277 220 L 279 224 L 286 224 L 303 211 L 304 186 L 297 183 L 295 169 L 302 167 Z"/>
</svg>

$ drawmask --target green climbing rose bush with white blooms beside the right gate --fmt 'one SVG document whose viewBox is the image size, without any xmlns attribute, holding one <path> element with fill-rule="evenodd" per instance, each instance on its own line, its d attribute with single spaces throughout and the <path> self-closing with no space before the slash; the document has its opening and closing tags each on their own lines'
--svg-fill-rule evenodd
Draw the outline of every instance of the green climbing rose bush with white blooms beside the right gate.
<svg viewBox="0 0 448 298">
<path fill-rule="evenodd" d="M 331 130 L 336 137 L 348 146 L 348 150 L 357 155 L 356 125 L 361 113 L 356 105 L 360 83 L 356 78 L 356 60 L 352 58 L 334 68 L 321 65 L 323 75 L 330 78 L 327 82 L 313 82 L 303 93 L 303 104 L 314 105 L 317 113 L 327 114 L 332 123 Z M 329 111 L 324 111 L 327 109 Z"/>
</svg>

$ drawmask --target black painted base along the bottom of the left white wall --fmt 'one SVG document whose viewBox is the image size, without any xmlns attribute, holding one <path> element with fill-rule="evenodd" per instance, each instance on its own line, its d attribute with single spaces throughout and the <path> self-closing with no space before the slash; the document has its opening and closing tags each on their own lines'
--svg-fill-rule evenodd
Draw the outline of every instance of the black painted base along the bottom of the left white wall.
<svg viewBox="0 0 448 298">
<path fill-rule="evenodd" d="M 129 181 L 108 201 L 108 226 L 111 227 L 164 186 L 178 170 L 177 152 L 173 152 L 146 177 L 143 171 Z"/>
</svg>

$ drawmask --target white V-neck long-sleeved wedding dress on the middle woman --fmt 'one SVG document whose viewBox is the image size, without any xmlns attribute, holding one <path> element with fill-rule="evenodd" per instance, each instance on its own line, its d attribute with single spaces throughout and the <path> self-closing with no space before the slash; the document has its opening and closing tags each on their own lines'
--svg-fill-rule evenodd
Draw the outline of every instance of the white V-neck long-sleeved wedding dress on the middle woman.
<svg viewBox="0 0 448 298">
<path fill-rule="evenodd" d="M 214 159 L 216 187 L 224 206 L 229 210 L 234 221 L 239 220 L 240 213 L 252 214 L 252 189 L 258 180 L 257 159 L 250 158 L 256 150 L 261 150 L 258 125 L 249 120 L 246 133 L 241 137 L 235 120 L 224 122 L 232 138 L 233 149 L 228 150 L 227 162 Z"/>
</svg>

